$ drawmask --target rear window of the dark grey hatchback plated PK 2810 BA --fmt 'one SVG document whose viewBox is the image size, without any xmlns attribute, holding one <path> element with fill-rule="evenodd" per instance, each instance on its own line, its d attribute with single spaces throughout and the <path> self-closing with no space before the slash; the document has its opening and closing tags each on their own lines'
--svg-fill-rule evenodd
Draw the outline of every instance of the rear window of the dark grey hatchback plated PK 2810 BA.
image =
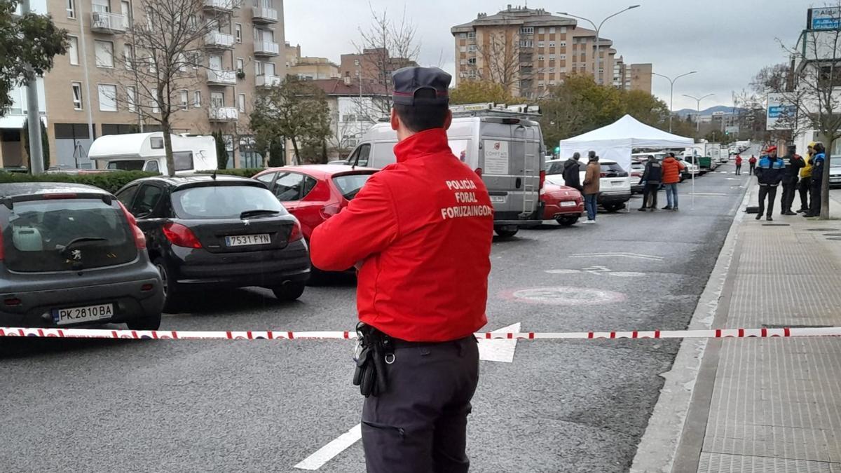
<svg viewBox="0 0 841 473">
<path fill-rule="evenodd" d="M 100 268 L 137 258 L 123 212 L 102 199 L 15 202 L 3 243 L 7 267 L 21 272 Z"/>
</svg>

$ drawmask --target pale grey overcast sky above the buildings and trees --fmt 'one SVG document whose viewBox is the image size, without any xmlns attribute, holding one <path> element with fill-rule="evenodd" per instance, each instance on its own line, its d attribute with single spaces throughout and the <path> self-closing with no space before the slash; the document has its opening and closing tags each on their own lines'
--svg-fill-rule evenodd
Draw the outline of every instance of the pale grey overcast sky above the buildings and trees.
<svg viewBox="0 0 841 473">
<path fill-rule="evenodd" d="M 635 8 L 610 19 L 601 35 L 613 40 L 627 62 L 651 62 L 654 72 L 674 77 L 693 70 L 674 85 L 674 109 L 701 109 L 733 104 L 733 90 L 748 86 L 763 66 L 785 61 L 775 38 L 792 45 L 806 26 L 807 0 L 566 0 L 530 1 L 530 8 L 567 11 L 598 23 L 632 3 Z M 518 3 L 513 3 L 517 5 Z M 522 4 L 522 3 L 520 3 Z M 822 6 L 818 2 L 816 6 Z M 405 11 L 414 21 L 421 40 L 422 66 L 437 66 L 453 72 L 454 48 L 450 27 L 468 23 L 476 13 L 496 13 L 507 2 L 481 0 L 371 0 L 378 11 L 388 8 L 394 18 Z M 285 0 L 286 40 L 300 44 L 304 56 L 325 56 L 338 62 L 342 53 L 353 52 L 360 25 L 370 24 L 364 0 Z M 653 91 L 669 103 L 669 81 L 653 77 Z"/>
</svg>

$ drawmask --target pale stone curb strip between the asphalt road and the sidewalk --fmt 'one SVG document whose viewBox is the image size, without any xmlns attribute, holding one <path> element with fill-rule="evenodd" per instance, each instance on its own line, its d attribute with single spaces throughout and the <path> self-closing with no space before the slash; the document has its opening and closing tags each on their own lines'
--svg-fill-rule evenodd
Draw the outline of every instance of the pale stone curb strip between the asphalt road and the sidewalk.
<svg viewBox="0 0 841 473">
<path fill-rule="evenodd" d="M 727 274 L 733 263 L 733 255 L 738 242 L 737 227 L 745 215 L 741 210 L 748 204 L 752 188 L 752 182 L 748 181 L 743 198 L 734 212 L 733 223 L 727 231 L 716 265 L 712 268 L 710 279 L 707 280 L 695 313 L 690 320 L 690 329 L 704 330 L 712 326 Z M 630 470 L 632 473 L 672 471 L 706 348 L 706 339 L 685 338 L 680 343 L 672 368 L 661 374 L 664 385 L 660 390 L 652 415 L 648 419 L 648 427 L 637 445 L 637 454 L 634 455 Z"/>
</svg>

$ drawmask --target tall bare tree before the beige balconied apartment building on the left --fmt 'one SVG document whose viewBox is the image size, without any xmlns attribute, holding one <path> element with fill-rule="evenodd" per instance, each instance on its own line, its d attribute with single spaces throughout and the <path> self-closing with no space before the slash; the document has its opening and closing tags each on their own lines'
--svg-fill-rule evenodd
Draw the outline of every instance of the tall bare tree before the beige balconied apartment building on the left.
<svg viewBox="0 0 841 473">
<path fill-rule="evenodd" d="M 183 91 L 209 78 L 235 80 L 234 71 L 207 67 L 206 41 L 230 24 L 230 11 L 238 0 L 215 0 L 217 10 L 209 13 L 205 0 L 140 0 L 140 19 L 130 21 L 124 36 L 125 47 L 114 54 L 113 74 L 119 92 L 113 98 L 135 111 L 141 122 L 150 120 L 163 131 L 167 171 L 175 174 L 172 158 L 173 119 L 185 104 Z M 204 12 L 204 17 L 199 16 Z M 210 77 L 214 75 L 214 77 Z"/>
</svg>

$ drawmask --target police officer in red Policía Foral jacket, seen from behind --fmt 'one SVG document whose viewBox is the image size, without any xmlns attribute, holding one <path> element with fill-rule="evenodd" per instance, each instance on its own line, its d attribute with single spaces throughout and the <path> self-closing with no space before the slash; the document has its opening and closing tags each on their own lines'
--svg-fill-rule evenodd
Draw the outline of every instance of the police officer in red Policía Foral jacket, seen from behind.
<svg viewBox="0 0 841 473">
<path fill-rule="evenodd" d="M 447 143 L 450 76 L 394 72 L 397 162 L 313 232 L 325 270 L 359 268 L 354 384 L 366 396 L 368 471 L 462 472 L 479 381 L 473 332 L 483 327 L 494 231 L 482 179 Z"/>
</svg>

